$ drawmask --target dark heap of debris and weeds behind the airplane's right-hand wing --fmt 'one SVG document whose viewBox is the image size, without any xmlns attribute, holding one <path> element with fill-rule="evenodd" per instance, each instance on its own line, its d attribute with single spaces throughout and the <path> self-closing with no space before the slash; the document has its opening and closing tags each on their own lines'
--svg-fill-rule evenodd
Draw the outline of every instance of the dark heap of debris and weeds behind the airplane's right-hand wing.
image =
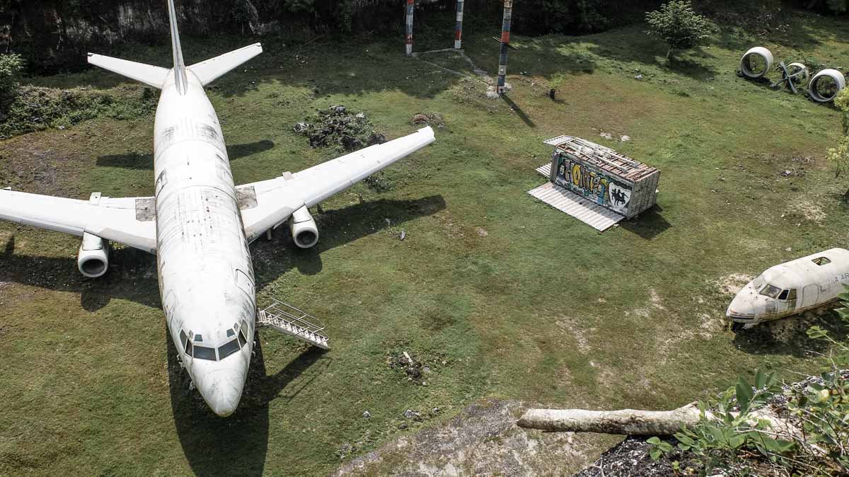
<svg viewBox="0 0 849 477">
<path fill-rule="evenodd" d="M 374 131 L 365 114 L 353 113 L 342 105 L 317 110 L 306 121 L 296 123 L 293 130 L 309 138 L 312 148 L 335 145 L 340 151 L 351 152 L 386 142 L 386 137 Z"/>
</svg>

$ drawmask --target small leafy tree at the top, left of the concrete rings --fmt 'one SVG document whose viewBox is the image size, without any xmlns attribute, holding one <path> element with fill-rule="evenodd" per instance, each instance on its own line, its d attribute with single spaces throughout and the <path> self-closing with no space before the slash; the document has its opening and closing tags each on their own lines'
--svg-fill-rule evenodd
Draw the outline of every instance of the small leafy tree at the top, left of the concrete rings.
<svg viewBox="0 0 849 477">
<path fill-rule="evenodd" d="M 672 0 L 661 9 L 645 14 L 649 35 L 658 36 L 669 45 L 666 58 L 674 49 L 689 49 L 702 42 L 710 33 L 712 24 L 695 13 L 689 0 Z"/>
</svg>

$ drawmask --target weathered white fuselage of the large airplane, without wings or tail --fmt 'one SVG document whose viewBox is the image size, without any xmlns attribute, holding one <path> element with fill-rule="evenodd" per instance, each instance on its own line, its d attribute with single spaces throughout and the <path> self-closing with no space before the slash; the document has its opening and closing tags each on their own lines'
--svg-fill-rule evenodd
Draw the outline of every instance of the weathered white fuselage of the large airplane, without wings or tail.
<svg viewBox="0 0 849 477">
<path fill-rule="evenodd" d="M 239 403 L 256 319 L 254 272 L 236 201 L 221 124 L 200 81 L 188 72 L 177 92 L 174 73 L 162 89 L 154 132 L 157 265 L 171 339 L 189 375 L 216 414 Z M 218 348 L 245 323 L 247 345 L 219 361 L 187 356 L 194 345 Z"/>
</svg>

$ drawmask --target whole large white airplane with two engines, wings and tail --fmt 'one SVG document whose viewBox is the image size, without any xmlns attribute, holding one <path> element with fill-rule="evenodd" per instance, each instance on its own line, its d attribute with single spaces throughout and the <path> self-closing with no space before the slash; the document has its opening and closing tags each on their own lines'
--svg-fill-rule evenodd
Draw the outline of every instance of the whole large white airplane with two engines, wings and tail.
<svg viewBox="0 0 849 477">
<path fill-rule="evenodd" d="M 77 259 L 96 278 L 110 242 L 156 254 L 160 296 L 183 366 L 212 411 L 239 404 L 256 326 L 248 244 L 287 220 L 309 248 L 318 228 L 308 207 L 434 141 L 430 127 L 301 172 L 236 188 L 221 125 L 204 87 L 261 53 L 259 43 L 186 66 L 168 0 L 171 70 L 89 54 L 88 62 L 162 90 L 154 127 L 155 197 L 62 199 L 0 190 L 0 219 L 82 236 Z M 324 343 L 326 345 L 326 342 Z"/>
</svg>

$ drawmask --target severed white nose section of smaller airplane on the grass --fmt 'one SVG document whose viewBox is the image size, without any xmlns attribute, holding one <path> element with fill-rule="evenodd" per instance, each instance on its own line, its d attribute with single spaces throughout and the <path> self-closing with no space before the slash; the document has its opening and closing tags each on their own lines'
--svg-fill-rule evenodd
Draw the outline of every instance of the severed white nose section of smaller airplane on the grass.
<svg viewBox="0 0 849 477">
<path fill-rule="evenodd" d="M 734 329 L 790 317 L 837 300 L 849 284 L 849 250 L 831 249 L 768 268 L 728 306 Z"/>
</svg>

